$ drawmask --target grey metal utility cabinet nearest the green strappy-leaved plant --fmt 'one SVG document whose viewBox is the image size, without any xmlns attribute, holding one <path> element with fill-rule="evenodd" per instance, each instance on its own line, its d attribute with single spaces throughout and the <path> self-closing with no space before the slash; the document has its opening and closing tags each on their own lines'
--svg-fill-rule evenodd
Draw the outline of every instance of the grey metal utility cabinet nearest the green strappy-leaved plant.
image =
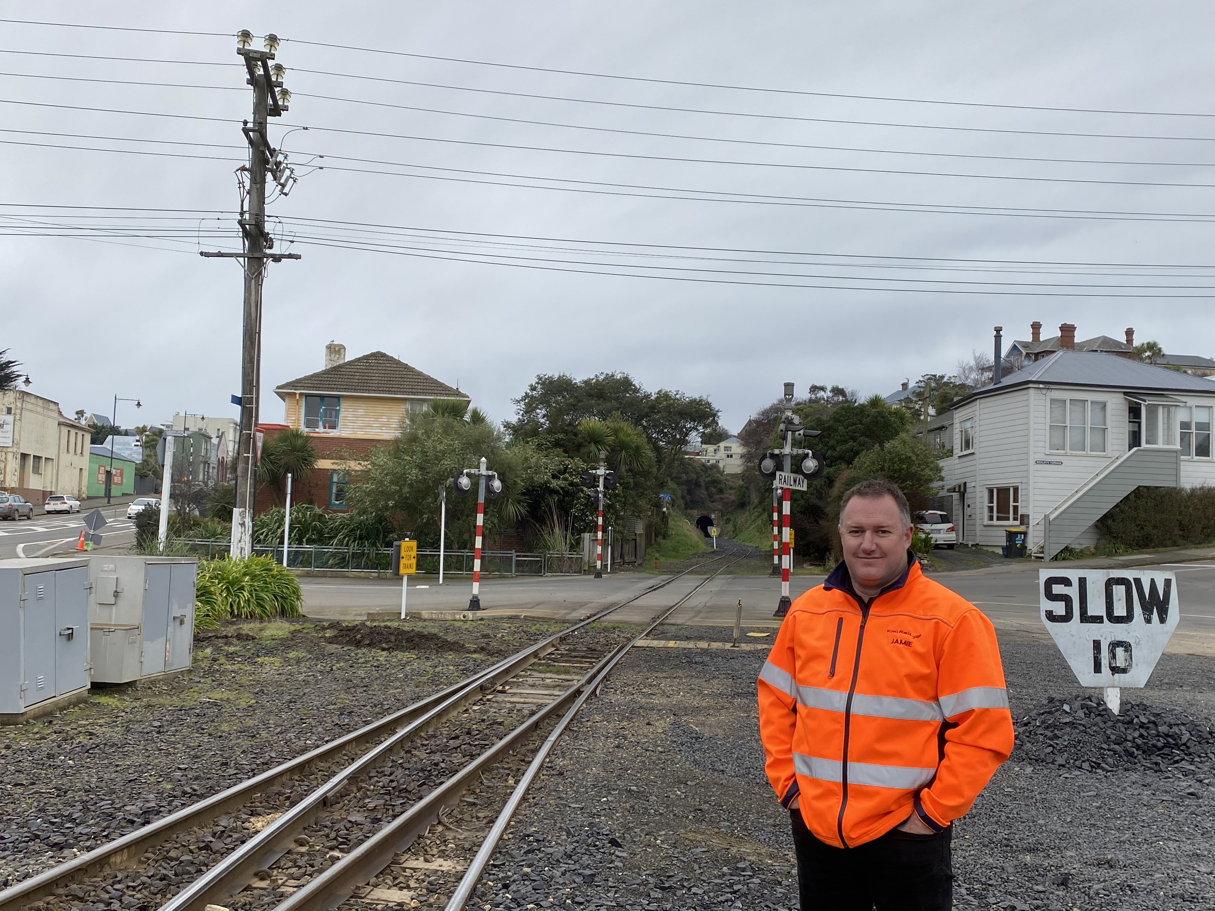
<svg viewBox="0 0 1215 911">
<path fill-rule="evenodd" d="M 89 561 L 94 683 L 130 683 L 190 667 L 198 561 L 96 555 Z"/>
</svg>

